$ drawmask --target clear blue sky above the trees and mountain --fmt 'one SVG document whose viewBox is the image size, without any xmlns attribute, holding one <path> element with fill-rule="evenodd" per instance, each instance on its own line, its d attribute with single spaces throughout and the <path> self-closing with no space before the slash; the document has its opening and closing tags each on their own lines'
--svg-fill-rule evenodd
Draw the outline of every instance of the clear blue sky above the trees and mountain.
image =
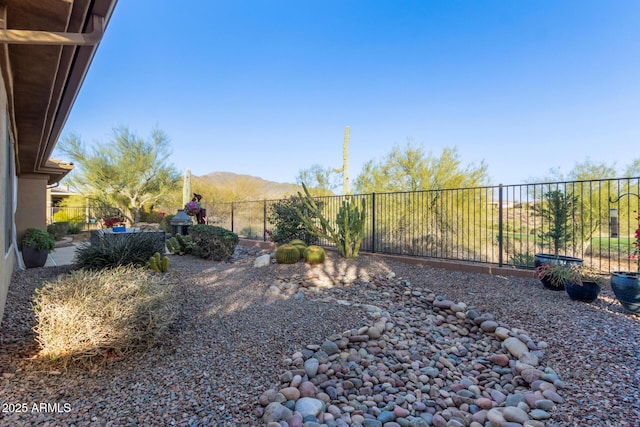
<svg viewBox="0 0 640 427">
<path fill-rule="evenodd" d="M 637 0 L 121 0 L 64 132 L 295 182 L 412 141 L 493 184 L 640 158 Z M 64 134 L 63 132 L 63 134 Z"/>
</svg>

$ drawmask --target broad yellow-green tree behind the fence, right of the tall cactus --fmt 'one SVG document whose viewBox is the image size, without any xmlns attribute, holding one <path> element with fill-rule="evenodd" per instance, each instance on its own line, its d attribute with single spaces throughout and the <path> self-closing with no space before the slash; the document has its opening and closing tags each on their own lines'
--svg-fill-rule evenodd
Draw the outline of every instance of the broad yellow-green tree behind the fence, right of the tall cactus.
<svg viewBox="0 0 640 427">
<path fill-rule="evenodd" d="M 464 167 L 455 148 L 445 148 L 436 156 L 408 142 L 380 162 L 367 162 L 355 188 L 359 194 L 407 192 L 376 197 L 377 249 L 403 241 L 407 253 L 435 254 L 437 250 L 446 256 L 459 245 L 458 236 L 482 226 L 479 215 L 469 208 L 480 203 L 473 193 L 447 189 L 477 187 L 487 181 L 487 166 Z M 418 231 L 411 226 L 416 222 L 423 224 Z"/>
</svg>

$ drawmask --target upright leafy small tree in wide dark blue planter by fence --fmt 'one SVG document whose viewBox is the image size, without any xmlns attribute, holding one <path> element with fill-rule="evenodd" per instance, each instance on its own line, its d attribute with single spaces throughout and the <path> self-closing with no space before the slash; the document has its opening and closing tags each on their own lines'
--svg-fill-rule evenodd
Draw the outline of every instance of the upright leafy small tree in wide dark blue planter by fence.
<svg viewBox="0 0 640 427">
<path fill-rule="evenodd" d="M 551 190 L 545 193 L 542 203 L 533 208 L 534 213 L 541 217 L 543 223 L 548 224 L 546 231 L 541 232 L 538 237 L 543 241 L 548 241 L 552 254 L 535 254 L 535 267 L 544 264 L 560 265 L 582 265 L 582 258 L 575 258 L 560 255 L 560 248 L 564 247 L 573 238 L 573 222 L 578 210 L 578 196 L 565 194 L 560 190 Z M 552 284 L 542 276 L 542 284 L 548 289 L 563 290 L 564 283 Z"/>
</svg>

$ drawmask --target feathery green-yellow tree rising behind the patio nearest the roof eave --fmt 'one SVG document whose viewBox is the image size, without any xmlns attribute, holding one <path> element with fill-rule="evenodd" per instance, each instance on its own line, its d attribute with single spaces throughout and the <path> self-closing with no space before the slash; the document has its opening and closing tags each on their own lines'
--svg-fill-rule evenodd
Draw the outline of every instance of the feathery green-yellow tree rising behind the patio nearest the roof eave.
<svg viewBox="0 0 640 427">
<path fill-rule="evenodd" d="M 75 165 L 68 178 L 71 187 L 120 209 L 133 222 L 178 185 L 180 174 L 169 163 L 169 138 L 159 129 L 144 140 L 127 127 L 118 127 L 109 142 L 91 147 L 69 134 L 58 149 Z"/>
</svg>

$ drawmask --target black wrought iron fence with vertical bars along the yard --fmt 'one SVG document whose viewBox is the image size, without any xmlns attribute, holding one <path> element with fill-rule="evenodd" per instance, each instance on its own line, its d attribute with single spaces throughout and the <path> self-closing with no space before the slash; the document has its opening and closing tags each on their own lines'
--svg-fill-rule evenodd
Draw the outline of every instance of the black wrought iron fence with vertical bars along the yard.
<svg viewBox="0 0 640 427">
<path fill-rule="evenodd" d="M 536 253 L 555 250 L 553 231 L 558 221 L 549 210 L 560 203 L 556 207 L 564 206 L 568 216 L 562 226 L 564 237 L 556 242 L 559 254 L 583 258 L 586 265 L 603 272 L 637 269 L 638 260 L 632 257 L 640 177 L 316 199 L 322 202 L 323 215 L 334 219 L 345 199 L 357 202 L 362 197 L 367 209 L 362 251 L 532 268 Z M 265 229 L 275 226 L 270 211 L 278 202 L 203 207 L 208 224 L 266 241 Z"/>
</svg>

